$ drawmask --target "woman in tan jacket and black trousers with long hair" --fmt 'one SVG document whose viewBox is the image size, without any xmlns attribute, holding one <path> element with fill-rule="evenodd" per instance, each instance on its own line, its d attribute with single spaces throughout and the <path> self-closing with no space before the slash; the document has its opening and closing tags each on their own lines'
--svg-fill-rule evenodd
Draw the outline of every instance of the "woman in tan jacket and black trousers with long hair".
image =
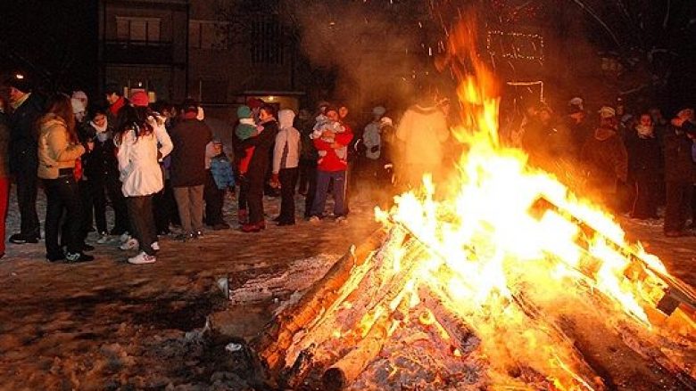
<svg viewBox="0 0 696 391">
<path fill-rule="evenodd" d="M 80 235 L 82 205 L 74 175 L 75 162 L 85 153 L 75 129 L 75 117 L 70 98 L 57 94 L 48 102 L 48 111 L 39 120 L 37 176 L 44 181 L 46 191 L 46 258 L 51 262 L 87 262 L 94 259 L 82 253 Z M 58 237 L 61 217 L 66 224 L 62 230 L 63 253 Z"/>
</svg>

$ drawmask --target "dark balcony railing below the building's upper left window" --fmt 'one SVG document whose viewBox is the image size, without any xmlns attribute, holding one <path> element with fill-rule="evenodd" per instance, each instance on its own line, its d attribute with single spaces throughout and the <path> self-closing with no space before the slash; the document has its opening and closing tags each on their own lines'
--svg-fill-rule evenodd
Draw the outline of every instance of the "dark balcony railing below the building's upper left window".
<svg viewBox="0 0 696 391">
<path fill-rule="evenodd" d="M 174 64 L 171 42 L 104 41 L 104 61 L 121 64 Z"/>
</svg>

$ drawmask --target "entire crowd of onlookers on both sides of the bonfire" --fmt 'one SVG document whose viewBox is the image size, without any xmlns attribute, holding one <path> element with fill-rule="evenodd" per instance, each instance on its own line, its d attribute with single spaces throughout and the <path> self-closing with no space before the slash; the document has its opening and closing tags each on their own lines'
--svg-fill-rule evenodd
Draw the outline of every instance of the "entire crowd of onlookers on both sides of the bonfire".
<svg viewBox="0 0 696 391">
<path fill-rule="evenodd" d="M 281 199 L 273 219 L 278 226 L 295 224 L 296 192 L 304 197 L 306 220 L 342 224 L 350 213 L 348 194 L 362 183 L 377 189 L 370 194 L 377 204 L 388 206 L 392 195 L 418 186 L 425 174 L 443 180 L 462 151 L 452 147 L 457 143 L 451 142 L 450 102 L 435 95 L 411 105 L 398 121 L 377 106 L 366 126 L 356 126 L 345 105 L 319 102 L 313 113 L 277 112 L 250 99 L 237 108 L 237 122 L 229 126 L 233 143 L 226 146 L 190 99 L 177 106 L 153 103 L 145 91 L 127 98 L 120 86 L 110 85 L 104 88 L 104 107 L 98 107 L 81 91 L 44 100 L 19 77 L 4 87 L 9 100 L 0 98 L 0 235 L 5 238 L 12 175 L 21 225 L 9 241 L 41 239 L 41 184 L 51 262 L 93 260 L 87 252 L 94 247 L 86 239 L 95 231 L 99 245 L 118 238 L 121 249 L 137 250 L 129 263 L 153 263 L 158 237 L 173 227 L 182 241 L 202 236 L 204 225 L 229 229 L 223 214 L 229 192 L 236 195 L 242 232 L 266 229 L 267 194 Z M 502 133 L 506 143 L 526 150 L 530 164 L 617 212 L 657 218 L 664 203 L 667 236 L 684 235 L 688 217 L 696 217 L 696 126 L 690 108 L 669 121 L 656 108 L 630 115 L 623 107 L 605 106 L 592 116 L 583 100 L 574 98 L 566 116 L 535 104 Z"/>
</svg>

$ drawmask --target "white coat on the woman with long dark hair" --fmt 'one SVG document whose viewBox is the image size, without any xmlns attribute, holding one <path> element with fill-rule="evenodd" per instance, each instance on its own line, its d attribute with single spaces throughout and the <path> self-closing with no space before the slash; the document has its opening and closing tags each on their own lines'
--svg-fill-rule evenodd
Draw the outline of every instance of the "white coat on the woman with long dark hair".
<svg viewBox="0 0 696 391">
<path fill-rule="evenodd" d="M 157 152 L 162 154 L 162 159 L 170 154 L 173 145 L 164 126 L 153 125 L 152 134 L 144 134 L 138 138 L 135 131 L 129 130 L 123 134 L 118 145 L 120 181 L 123 183 L 121 191 L 126 197 L 154 194 L 164 187 Z M 158 143 L 161 144 L 159 150 Z"/>
</svg>

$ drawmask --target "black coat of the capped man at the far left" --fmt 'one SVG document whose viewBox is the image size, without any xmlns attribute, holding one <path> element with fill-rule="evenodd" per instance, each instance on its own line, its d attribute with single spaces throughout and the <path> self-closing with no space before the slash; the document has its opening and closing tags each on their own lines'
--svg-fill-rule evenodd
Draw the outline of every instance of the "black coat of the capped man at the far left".
<svg viewBox="0 0 696 391">
<path fill-rule="evenodd" d="M 10 115 L 10 168 L 13 173 L 37 173 L 37 120 L 44 112 L 44 101 L 30 94 Z"/>
</svg>

